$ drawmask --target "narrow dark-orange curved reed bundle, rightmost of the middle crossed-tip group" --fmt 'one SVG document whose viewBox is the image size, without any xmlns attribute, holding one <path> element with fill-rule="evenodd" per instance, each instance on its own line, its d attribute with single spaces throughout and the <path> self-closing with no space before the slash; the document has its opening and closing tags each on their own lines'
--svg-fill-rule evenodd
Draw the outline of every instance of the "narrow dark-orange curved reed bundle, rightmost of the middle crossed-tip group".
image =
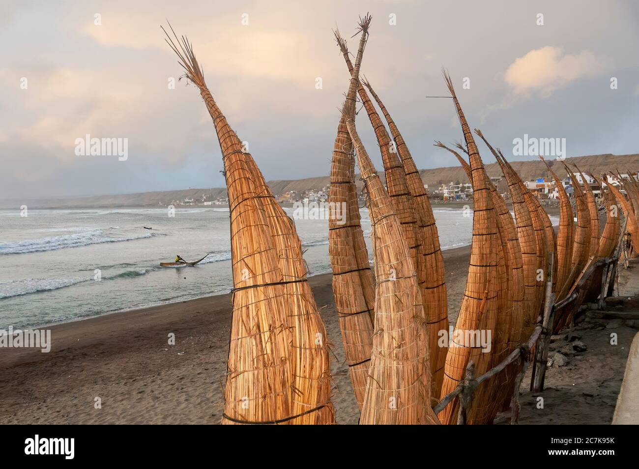
<svg viewBox="0 0 639 469">
<path fill-rule="evenodd" d="M 386 119 L 390 134 L 396 144 L 401 164 L 404 167 L 406 183 L 410 190 L 410 194 L 415 201 L 415 210 L 417 211 L 417 220 L 419 231 L 421 232 L 421 242 L 424 247 L 423 259 L 426 268 L 426 279 L 419 278 L 422 288 L 422 299 L 424 303 L 424 311 L 426 312 L 426 321 L 429 332 L 429 344 L 431 344 L 431 372 L 433 374 L 433 397 L 440 395 L 442 390 L 443 369 L 446 362 L 446 353 L 448 344 L 442 344 L 438 341 L 440 331 L 448 330 L 448 304 L 446 294 L 446 272 L 443 265 L 442 249 L 439 242 L 439 234 L 435 224 L 435 215 L 433 208 L 428 199 L 424 182 L 419 176 L 419 170 L 415 161 L 408 150 L 408 146 L 404 138 L 399 133 L 399 129 L 395 121 L 390 116 L 389 111 L 381 102 L 371 84 L 364 81 L 364 86 L 369 90 L 373 98 L 381 109 Z M 418 273 L 419 275 L 419 273 Z M 438 346 L 435 347 L 435 344 Z"/>
</svg>

